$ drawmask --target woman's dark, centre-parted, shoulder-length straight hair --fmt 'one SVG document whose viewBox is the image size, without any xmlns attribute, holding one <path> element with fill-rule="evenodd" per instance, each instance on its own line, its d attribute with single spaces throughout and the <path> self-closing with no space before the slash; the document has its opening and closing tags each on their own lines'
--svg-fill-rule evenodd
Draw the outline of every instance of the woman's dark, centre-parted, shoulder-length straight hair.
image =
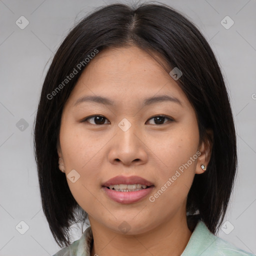
<svg viewBox="0 0 256 256">
<path fill-rule="evenodd" d="M 223 221 L 233 189 L 237 155 L 229 98 L 214 53 L 191 21 L 165 4 L 110 4 L 80 20 L 65 37 L 47 71 L 38 104 L 34 150 L 41 203 L 60 246 L 70 244 L 69 228 L 78 221 L 76 213 L 81 213 L 82 221 L 87 217 L 58 169 L 56 145 L 63 105 L 86 68 L 86 57 L 109 46 L 129 45 L 149 54 L 157 53 L 168 64 L 168 72 L 174 67 L 182 71 L 177 83 L 194 107 L 200 142 L 207 129 L 213 132 L 207 171 L 195 174 L 186 212 L 193 216 L 198 213 L 212 233 Z M 77 73 L 63 83 L 74 68 Z"/>
</svg>

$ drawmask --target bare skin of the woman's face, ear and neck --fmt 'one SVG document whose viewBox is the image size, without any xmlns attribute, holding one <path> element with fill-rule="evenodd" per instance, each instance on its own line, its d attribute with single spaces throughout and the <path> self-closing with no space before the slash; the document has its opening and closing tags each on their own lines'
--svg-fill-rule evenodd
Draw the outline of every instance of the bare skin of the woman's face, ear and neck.
<svg viewBox="0 0 256 256">
<path fill-rule="evenodd" d="M 144 98 L 167 94 L 178 98 L 142 105 Z M 116 106 L 82 102 L 100 95 Z M 97 122 L 91 115 L 103 115 Z M 154 121 L 152 117 L 165 115 Z M 126 118 L 127 131 L 118 123 Z M 95 124 L 97 123 L 97 124 Z M 99 123 L 99 124 L 98 124 Z M 59 168 L 80 177 L 67 183 L 77 203 L 88 213 L 93 247 L 91 255 L 180 255 L 191 231 L 186 222 L 186 198 L 195 174 L 207 166 L 211 145 L 199 144 L 195 111 L 177 82 L 144 50 L 135 46 L 108 48 L 87 64 L 64 105 L 57 147 Z M 196 160 L 153 202 L 175 171 L 200 151 Z M 136 160 L 135 160 L 136 159 Z M 144 199 L 128 204 L 111 200 L 101 184 L 116 175 L 138 175 L 154 184 Z M 118 226 L 126 221 L 129 231 Z"/>
</svg>

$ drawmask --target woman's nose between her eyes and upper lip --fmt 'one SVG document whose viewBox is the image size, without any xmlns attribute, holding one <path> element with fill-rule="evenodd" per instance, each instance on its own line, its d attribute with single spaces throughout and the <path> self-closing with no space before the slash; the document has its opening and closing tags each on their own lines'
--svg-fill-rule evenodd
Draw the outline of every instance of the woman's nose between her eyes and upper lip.
<svg viewBox="0 0 256 256">
<path fill-rule="evenodd" d="M 117 126 L 116 135 L 111 140 L 108 160 L 112 164 L 139 165 L 147 161 L 145 136 L 135 125 L 126 131 Z"/>
</svg>

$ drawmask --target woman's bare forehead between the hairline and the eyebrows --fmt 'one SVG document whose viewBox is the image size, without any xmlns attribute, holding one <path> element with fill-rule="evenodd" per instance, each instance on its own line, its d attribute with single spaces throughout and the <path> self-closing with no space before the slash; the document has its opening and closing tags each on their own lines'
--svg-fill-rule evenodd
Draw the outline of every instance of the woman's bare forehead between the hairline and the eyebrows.
<svg viewBox="0 0 256 256">
<path fill-rule="evenodd" d="M 188 103 L 182 89 L 162 65 L 168 68 L 159 56 L 152 57 L 135 46 L 104 49 L 86 65 L 70 100 L 75 104 L 78 98 L 89 94 L 131 103 L 167 94 Z"/>
</svg>

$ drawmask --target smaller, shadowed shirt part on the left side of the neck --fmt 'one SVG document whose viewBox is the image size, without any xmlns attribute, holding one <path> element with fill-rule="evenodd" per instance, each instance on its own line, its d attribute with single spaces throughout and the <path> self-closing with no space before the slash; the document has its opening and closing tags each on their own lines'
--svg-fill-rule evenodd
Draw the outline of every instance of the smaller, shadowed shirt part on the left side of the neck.
<svg viewBox="0 0 256 256">
<path fill-rule="evenodd" d="M 91 241 L 92 232 L 90 226 L 88 226 L 78 240 L 60 249 L 52 256 L 89 256 Z"/>
</svg>

